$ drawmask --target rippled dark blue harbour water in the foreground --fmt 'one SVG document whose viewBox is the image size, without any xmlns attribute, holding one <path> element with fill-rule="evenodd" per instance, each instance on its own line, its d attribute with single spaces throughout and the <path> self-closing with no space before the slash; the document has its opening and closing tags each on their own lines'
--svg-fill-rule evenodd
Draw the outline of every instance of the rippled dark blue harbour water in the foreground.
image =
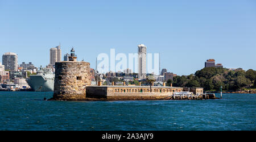
<svg viewBox="0 0 256 142">
<path fill-rule="evenodd" d="M 1 91 L 0 130 L 256 130 L 256 94 L 192 101 L 43 100 L 52 94 Z"/>
</svg>

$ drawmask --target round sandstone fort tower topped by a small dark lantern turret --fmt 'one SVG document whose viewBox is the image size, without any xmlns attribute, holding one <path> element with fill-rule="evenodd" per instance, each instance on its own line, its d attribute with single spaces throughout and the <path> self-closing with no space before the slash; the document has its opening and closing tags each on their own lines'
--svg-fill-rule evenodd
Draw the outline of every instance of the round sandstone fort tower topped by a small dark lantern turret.
<svg viewBox="0 0 256 142">
<path fill-rule="evenodd" d="M 84 100 L 86 86 L 90 85 L 90 63 L 77 61 L 72 48 L 69 61 L 55 62 L 55 100 Z"/>
</svg>

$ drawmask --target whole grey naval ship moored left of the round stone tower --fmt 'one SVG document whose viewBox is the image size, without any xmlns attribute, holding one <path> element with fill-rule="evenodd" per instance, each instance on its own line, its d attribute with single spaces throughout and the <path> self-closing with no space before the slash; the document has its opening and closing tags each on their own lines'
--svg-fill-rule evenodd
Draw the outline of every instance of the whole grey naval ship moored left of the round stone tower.
<svg viewBox="0 0 256 142">
<path fill-rule="evenodd" d="M 36 75 L 30 75 L 26 81 L 34 91 L 53 91 L 54 72 L 49 68 L 40 68 Z"/>
</svg>

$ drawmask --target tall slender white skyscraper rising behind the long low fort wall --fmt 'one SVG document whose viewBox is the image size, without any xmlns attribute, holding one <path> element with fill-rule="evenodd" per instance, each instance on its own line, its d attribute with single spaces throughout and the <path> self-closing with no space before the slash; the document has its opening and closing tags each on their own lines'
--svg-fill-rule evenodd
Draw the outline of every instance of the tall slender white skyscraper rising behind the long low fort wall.
<svg viewBox="0 0 256 142">
<path fill-rule="evenodd" d="M 138 78 L 146 78 L 147 48 L 144 44 L 138 45 Z"/>
</svg>

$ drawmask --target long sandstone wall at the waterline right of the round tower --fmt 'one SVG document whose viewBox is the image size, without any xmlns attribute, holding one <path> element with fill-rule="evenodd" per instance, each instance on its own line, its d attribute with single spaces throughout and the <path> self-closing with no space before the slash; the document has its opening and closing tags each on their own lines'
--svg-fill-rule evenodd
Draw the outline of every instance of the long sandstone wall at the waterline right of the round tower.
<svg viewBox="0 0 256 142">
<path fill-rule="evenodd" d="M 125 90 L 124 90 L 125 89 Z M 87 86 L 86 100 L 161 100 L 161 99 L 192 99 L 188 97 L 174 98 L 173 90 L 182 91 L 181 87 L 153 87 L 154 92 L 148 91 L 148 86 Z M 138 91 L 138 90 L 142 90 Z M 195 88 L 201 91 L 201 88 Z M 202 94 L 193 99 L 202 99 Z"/>
</svg>

